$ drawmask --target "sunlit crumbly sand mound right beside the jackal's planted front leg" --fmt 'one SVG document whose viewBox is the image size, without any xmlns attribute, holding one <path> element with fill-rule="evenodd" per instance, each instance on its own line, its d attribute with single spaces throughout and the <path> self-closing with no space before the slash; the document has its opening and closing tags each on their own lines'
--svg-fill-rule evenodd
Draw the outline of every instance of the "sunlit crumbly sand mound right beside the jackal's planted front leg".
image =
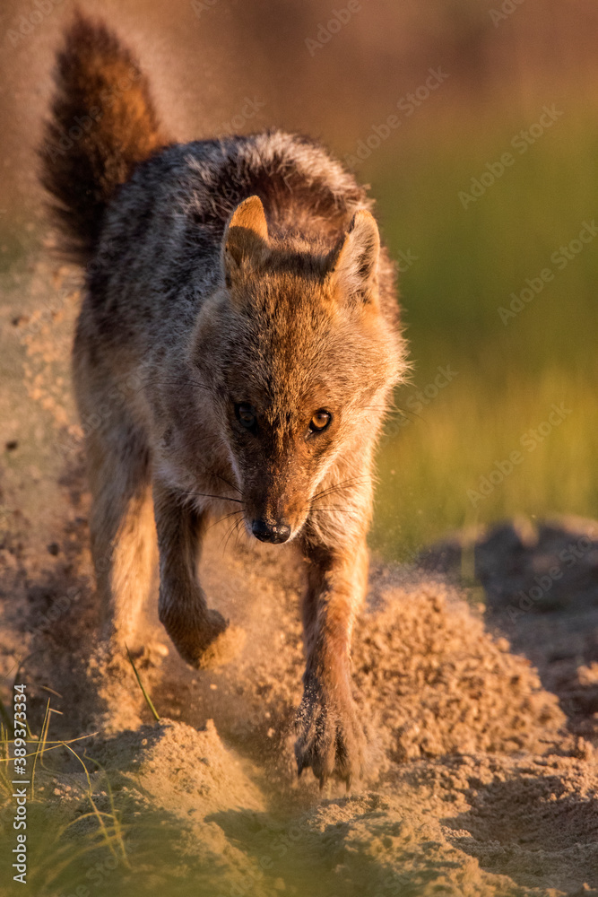
<svg viewBox="0 0 598 897">
<path fill-rule="evenodd" d="M 425 581 L 383 594 L 384 609 L 360 622 L 354 664 L 390 759 L 535 752 L 557 736 L 565 722 L 557 699 L 480 614 Z"/>
</svg>

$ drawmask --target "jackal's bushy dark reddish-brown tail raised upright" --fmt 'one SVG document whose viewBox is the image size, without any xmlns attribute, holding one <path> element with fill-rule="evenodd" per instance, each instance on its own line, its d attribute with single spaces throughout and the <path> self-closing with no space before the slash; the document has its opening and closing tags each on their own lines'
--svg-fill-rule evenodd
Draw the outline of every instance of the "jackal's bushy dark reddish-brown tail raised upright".
<svg viewBox="0 0 598 897">
<path fill-rule="evenodd" d="M 169 140 L 131 52 L 102 22 L 76 13 L 58 54 L 52 118 L 39 148 L 65 252 L 85 264 L 106 205 L 135 165 Z"/>
</svg>

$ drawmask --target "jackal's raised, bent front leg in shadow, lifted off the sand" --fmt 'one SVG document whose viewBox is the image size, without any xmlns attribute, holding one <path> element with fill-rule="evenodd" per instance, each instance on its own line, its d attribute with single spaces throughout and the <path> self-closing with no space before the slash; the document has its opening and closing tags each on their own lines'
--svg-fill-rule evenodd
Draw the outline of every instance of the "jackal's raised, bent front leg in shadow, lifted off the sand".
<svg viewBox="0 0 598 897">
<path fill-rule="evenodd" d="M 210 610 L 197 579 L 197 562 L 206 515 L 180 495 L 154 483 L 154 512 L 160 550 L 160 623 L 181 658 L 199 669 L 227 663 L 237 653 L 243 632 Z"/>
</svg>

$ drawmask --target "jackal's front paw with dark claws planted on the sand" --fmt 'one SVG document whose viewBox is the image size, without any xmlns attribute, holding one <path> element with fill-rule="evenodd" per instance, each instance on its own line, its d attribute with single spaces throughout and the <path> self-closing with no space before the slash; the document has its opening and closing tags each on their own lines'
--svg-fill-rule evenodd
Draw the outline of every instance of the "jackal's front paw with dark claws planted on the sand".
<svg viewBox="0 0 598 897">
<path fill-rule="evenodd" d="M 311 767 L 320 788 L 326 779 L 344 781 L 347 790 L 365 769 L 366 739 L 351 696 L 334 697 L 318 679 L 308 680 L 296 719 L 297 772 Z"/>
</svg>

